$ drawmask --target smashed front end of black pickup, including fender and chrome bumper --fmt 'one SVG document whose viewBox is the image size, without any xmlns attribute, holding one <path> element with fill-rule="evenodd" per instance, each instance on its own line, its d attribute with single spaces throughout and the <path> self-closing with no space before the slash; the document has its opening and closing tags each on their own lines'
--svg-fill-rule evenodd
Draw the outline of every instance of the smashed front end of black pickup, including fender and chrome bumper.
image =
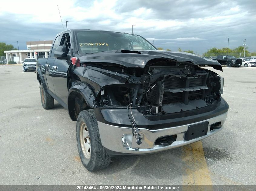
<svg viewBox="0 0 256 191">
<path fill-rule="evenodd" d="M 228 105 L 221 98 L 223 78 L 215 72 L 163 59 L 143 68 L 80 65 L 74 73 L 94 92 L 101 142 L 111 151 L 135 154 L 175 148 L 217 132 L 220 128 L 210 130 L 215 123 L 223 127 Z M 186 140 L 188 125 L 205 120 L 205 132 Z"/>
</svg>

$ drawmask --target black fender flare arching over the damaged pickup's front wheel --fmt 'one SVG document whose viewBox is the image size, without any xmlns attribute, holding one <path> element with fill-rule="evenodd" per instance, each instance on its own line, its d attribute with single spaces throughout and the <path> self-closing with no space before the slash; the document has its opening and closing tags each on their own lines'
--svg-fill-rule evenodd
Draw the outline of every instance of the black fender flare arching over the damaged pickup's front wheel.
<svg viewBox="0 0 256 191">
<path fill-rule="evenodd" d="M 89 107 L 97 108 L 95 104 L 95 96 L 88 85 L 82 82 L 75 83 L 68 91 L 68 99 L 70 98 L 70 94 L 74 91 L 79 93 L 84 98 Z"/>
</svg>

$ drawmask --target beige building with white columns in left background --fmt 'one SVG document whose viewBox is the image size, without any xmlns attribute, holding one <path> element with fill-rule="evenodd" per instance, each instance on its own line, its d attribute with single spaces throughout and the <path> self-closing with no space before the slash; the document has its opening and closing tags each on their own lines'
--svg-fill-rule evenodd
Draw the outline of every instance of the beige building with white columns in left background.
<svg viewBox="0 0 256 191">
<path fill-rule="evenodd" d="M 6 62 L 18 59 L 16 63 L 20 64 L 25 58 L 48 58 L 52 43 L 53 40 L 28 41 L 27 50 L 5 50 Z"/>
</svg>

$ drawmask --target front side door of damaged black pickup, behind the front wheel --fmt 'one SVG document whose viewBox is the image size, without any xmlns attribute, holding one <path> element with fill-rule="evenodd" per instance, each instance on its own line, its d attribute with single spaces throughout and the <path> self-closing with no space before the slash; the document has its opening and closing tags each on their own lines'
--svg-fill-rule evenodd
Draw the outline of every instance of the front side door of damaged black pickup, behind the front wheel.
<svg viewBox="0 0 256 191">
<path fill-rule="evenodd" d="M 64 58 L 56 58 L 53 63 L 53 84 L 55 94 L 67 104 L 68 97 L 68 84 L 67 84 L 67 72 L 68 67 L 71 64 L 72 47 L 71 47 L 71 35 L 66 32 L 62 35 L 60 46 L 66 46 L 68 52 Z"/>
</svg>

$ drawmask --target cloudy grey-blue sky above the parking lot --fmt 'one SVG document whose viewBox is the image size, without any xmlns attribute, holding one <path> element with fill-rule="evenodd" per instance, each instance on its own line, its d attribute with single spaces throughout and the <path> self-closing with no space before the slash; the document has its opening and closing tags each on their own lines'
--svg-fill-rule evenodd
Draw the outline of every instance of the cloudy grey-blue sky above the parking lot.
<svg viewBox="0 0 256 191">
<path fill-rule="evenodd" d="M 132 32 L 164 49 L 206 52 L 246 45 L 256 52 L 256 0 L 2 1 L 0 42 L 54 40 L 64 28 Z"/>
</svg>

